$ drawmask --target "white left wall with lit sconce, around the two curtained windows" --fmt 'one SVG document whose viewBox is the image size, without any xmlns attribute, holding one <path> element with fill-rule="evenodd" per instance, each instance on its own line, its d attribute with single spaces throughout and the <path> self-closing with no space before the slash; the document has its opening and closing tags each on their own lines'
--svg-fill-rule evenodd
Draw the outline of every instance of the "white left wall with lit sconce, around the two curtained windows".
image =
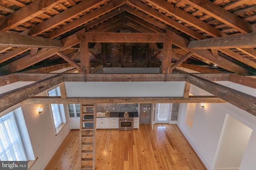
<svg viewBox="0 0 256 170">
<path fill-rule="evenodd" d="M 8 92 L 18 87 L 22 87 L 32 82 L 16 82 L 10 85 L 1 86 L 1 92 Z M 38 96 L 46 96 L 46 92 L 38 94 Z M 70 128 L 67 123 L 58 135 L 55 136 L 54 123 L 51 116 L 50 105 L 21 105 L 17 104 L 3 112 L 0 116 L 9 113 L 10 111 L 22 107 L 22 112 L 28 129 L 28 135 L 33 148 L 35 158 L 38 160 L 30 168 L 30 170 L 43 170 L 56 152 L 62 141 L 68 135 Z M 38 113 L 37 108 L 42 107 L 43 113 Z M 68 113 L 68 112 L 66 112 Z M 66 120 L 67 115 L 66 115 Z"/>
</svg>

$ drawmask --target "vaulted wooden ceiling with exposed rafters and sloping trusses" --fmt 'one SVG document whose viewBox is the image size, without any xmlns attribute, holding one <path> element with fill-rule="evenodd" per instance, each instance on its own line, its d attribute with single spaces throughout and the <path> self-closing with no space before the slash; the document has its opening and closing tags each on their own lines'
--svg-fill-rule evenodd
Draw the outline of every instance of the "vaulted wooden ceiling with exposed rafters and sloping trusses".
<svg viewBox="0 0 256 170">
<path fill-rule="evenodd" d="M 255 0 L 0 0 L 0 74 L 79 69 L 84 30 L 169 33 L 176 66 L 255 75 L 255 25 Z M 88 57 L 91 67 L 160 67 L 163 46 L 96 41 Z"/>
</svg>

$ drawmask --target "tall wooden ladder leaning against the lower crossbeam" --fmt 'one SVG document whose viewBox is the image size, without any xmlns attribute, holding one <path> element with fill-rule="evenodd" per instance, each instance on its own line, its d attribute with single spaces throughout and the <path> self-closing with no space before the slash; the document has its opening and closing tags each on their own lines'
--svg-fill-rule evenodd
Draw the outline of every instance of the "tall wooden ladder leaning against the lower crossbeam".
<svg viewBox="0 0 256 170">
<path fill-rule="evenodd" d="M 96 104 L 80 106 L 81 170 L 95 170 Z"/>
</svg>

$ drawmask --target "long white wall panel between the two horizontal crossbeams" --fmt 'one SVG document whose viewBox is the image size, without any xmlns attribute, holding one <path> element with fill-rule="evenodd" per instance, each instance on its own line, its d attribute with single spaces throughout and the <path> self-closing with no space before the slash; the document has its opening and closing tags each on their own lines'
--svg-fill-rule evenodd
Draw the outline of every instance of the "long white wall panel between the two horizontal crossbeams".
<svg viewBox="0 0 256 170">
<path fill-rule="evenodd" d="M 67 97 L 183 97 L 185 82 L 65 82 Z"/>
</svg>

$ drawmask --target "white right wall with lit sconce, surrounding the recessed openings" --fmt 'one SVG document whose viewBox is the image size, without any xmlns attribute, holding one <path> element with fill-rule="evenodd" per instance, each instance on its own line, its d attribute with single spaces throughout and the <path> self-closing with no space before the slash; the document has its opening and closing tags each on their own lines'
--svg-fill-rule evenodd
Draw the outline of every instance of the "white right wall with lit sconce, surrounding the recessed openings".
<svg viewBox="0 0 256 170">
<path fill-rule="evenodd" d="M 232 82 L 218 83 L 256 96 L 256 89 L 254 88 L 249 88 Z M 207 92 L 193 85 L 191 85 L 190 92 L 193 95 L 208 95 Z M 206 103 L 204 108 L 201 107 L 200 104 L 197 104 L 194 123 L 191 129 L 185 122 L 186 109 L 187 104 L 180 104 L 178 126 L 209 170 L 212 168 L 214 162 L 226 113 L 253 130 L 239 170 L 255 170 L 256 161 L 251 159 L 256 157 L 256 152 L 252 152 L 252 150 L 256 150 L 256 133 L 254 132 L 254 130 L 256 130 L 255 116 L 229 103 Z"/>
</svg>

